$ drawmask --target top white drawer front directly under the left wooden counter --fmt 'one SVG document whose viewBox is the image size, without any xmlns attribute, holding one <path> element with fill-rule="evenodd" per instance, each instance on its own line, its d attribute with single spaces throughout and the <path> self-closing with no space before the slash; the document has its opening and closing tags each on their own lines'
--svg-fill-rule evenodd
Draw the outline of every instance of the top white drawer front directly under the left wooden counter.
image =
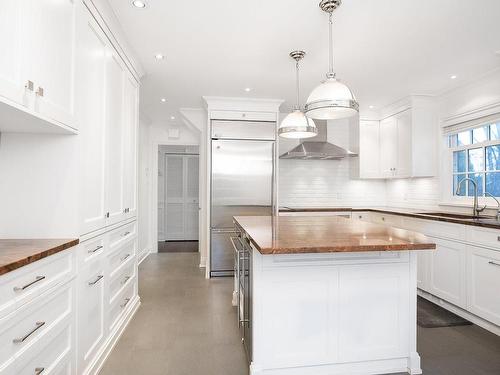
<svg viewBox="0 0 500 375">
<path fill-rule="evenodd" d="M 0 277 L 0 318 L 75 274 L 72 249 Z"/>
</svg>

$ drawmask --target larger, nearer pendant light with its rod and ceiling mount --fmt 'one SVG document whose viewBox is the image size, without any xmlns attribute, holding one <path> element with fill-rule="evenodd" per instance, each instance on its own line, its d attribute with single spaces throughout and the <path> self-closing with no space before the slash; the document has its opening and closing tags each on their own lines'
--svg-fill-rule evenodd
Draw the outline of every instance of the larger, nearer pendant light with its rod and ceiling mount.
<svg viewBox="0 0 500 375">
<path fill-rule="evenodd" d="M 307 98 L 305 113 L 307 117 L 318 120 L 333 120 L 354 116 L 359 104 L 351 89 L 335 77 L 333 64 L 333 11 L 342 0 L 322 0 L 319 7 L 329 14 L 329 71 L 326 80 L 317 86 Z"/>
</svg>

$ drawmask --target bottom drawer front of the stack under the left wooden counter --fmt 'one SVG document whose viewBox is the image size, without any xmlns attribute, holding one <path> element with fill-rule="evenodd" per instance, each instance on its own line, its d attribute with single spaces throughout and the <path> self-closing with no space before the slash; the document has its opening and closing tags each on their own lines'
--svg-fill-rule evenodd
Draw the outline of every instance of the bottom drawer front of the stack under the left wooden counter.
<svg viewBox="0 0 500 375">
<path fill-rule="evenodd" d="M 40 342 L 16 360 L 18 375 L 71 374 L 72 366 L 72 326 L 66 324 L 53 332 L 48 340 Z M 74 373 L 74 372 L 73 372 Z"/>
</svg>

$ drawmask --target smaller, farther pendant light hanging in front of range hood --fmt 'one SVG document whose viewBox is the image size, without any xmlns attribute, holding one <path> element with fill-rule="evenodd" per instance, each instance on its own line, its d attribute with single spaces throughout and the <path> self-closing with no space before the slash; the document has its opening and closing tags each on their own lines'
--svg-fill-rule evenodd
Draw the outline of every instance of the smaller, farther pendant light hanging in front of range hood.
<svg viewBox="0 0 500 375">
<path fill-rule="evenodd" d="M 297 80 L 297 104 L 292 113 L 289 113 L 278 128 L 278 135 L 283 138 L 311 138 L 318 134 L 316 124 L 300 110 L 299 95 L 299 61 L 305 56 L 304 51 L 292 51 L 290 57 L 295 60 Z"/>
</svg>

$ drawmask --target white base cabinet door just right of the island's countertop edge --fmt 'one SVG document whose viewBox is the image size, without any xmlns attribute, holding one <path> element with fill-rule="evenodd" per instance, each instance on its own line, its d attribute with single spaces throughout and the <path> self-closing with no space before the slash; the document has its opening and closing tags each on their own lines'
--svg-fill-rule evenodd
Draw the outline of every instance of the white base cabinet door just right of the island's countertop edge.
<svg viewBox="0 0 500 375">
<path fill-rule="evenodd" d="M 430 258 L 429 292 L 465 308 L 465 245 L 433 238 L 436 250 Z"/>
</svg>

